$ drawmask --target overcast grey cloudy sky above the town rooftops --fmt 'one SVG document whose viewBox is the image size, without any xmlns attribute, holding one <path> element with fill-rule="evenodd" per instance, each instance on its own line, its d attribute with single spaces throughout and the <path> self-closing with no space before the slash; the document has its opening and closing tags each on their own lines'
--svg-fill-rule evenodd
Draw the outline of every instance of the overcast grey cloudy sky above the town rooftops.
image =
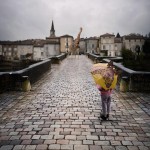
<svg viewBox="0 0 150 150">
<path fill-rule="evenodd" d="M 0 40 L 150 32 L 150 0 L 0 0 Z"/>
</svg>

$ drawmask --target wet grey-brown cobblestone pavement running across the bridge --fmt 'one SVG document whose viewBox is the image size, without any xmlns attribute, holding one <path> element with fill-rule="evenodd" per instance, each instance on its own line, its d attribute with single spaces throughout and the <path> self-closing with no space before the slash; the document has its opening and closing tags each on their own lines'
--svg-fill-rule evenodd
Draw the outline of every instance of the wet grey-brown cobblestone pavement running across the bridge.
<svg viewBox="0 0 150 150">
<path fill-rule="evenodd" d="M 0 95 L 0 150 L 149 150 L 150 94 L 112 94 L 99 120 L 99 92 L 86 56 L 66 58 L 30 92 Z"/>
</svg>

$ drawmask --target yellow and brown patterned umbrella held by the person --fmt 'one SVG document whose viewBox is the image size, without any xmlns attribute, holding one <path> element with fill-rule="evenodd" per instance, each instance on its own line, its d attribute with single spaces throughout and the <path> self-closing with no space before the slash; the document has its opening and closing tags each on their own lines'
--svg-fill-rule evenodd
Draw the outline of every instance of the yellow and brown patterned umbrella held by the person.
<svg viewBox="0 0 150 150">
<path fill-rule="evenodd" d="M 113 67 L 108 67 L 107 63 L 94 64 L 91 70 L 92 77 L 96 84 L 100 85 L 103 89 L 114 89 L 117 83 L 117 75 Z"/>
</svg>

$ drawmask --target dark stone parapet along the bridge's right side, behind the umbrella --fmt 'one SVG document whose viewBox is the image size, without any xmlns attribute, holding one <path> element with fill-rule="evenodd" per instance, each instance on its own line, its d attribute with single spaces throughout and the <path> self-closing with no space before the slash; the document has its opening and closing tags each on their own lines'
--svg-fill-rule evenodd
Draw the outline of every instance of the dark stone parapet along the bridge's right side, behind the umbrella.
<svg viewBox="0 0 150 150">
<path fill-rule="evenodd" d="M 128 91 L 150 91 L 150 72 L 134 71 L 124 67 L 121 63 L 118 63 L 122 61 L 121 57 L 104 57 L 91 53 L 87 53 L 87 56 L 92 59 L 94 63 L 109 62 L 110 60 L 113 60 L 114 66 L 121 71 L 121 74 L 118 76 L 119 86 L 121 81 L 125 80 L 124 82 L 126 82 L 126 85 L 128 86 Z"/>
</svg>

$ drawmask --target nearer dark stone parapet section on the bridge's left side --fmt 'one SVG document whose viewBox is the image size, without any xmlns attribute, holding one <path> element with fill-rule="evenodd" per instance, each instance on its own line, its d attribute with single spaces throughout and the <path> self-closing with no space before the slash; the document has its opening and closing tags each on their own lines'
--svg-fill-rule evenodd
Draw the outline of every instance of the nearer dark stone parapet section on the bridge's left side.
<svg viewBox="0 0 150 150">
<path fill-rule="evenodd" d="M 19 71 L 0 72 L 0 92 L 19 89 L 24 76 L 28 76 L 30 82 L 34 83 L 49 69 L 51 60 L 47 59 Z"/>
</svg>

